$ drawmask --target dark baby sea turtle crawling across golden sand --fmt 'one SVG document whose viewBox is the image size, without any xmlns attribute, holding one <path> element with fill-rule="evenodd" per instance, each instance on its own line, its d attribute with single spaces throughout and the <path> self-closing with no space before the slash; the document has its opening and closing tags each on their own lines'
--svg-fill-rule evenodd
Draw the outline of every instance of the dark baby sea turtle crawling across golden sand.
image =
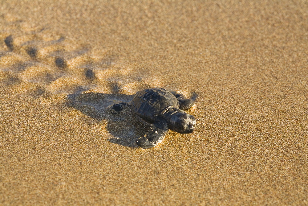
<svg viewBox="0 0 308 206">
<path fill-rule="evenodd" d="M 113 105 L 111 112 L 119 113 L 125 105 L 131 106 L 138 116 L 151 123 L 147 134 L 136 141 L 142 148 L 156 146 L 168 129 L 187 134 L 193 132 L 196 124 L 195 117 L 182 110 L 191 108 L 194 101 L 186 99 L 182 93 L 169 92 L 162 88 L 145 89 L 137 92 L 130 103 Z"/>
</svg>

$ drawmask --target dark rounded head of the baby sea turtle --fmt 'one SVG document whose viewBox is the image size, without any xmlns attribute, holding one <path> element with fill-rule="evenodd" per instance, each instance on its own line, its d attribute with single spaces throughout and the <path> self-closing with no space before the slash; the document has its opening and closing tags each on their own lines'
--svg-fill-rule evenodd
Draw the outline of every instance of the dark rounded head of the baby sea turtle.
<svg viewBox="0 0 308 206">
<path fill-rule="evenodd" d="M 169 129 L 181 134 L 192 133 L 196 124 L 194 116 L 178 111 L 171 115 L 169 120 Z"/>
</svg>

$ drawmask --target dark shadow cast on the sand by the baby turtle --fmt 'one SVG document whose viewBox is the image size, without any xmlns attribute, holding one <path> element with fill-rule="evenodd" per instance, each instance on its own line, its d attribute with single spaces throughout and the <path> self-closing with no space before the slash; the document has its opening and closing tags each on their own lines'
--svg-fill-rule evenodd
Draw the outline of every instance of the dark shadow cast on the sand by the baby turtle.
<svg viewBox="0 0 308 206">
<path fill-rule="evenodd" d="M 133 95 L 105 93 L 75 93 L 67 96 L 67 105 L 99 121 L 107 120 L 107 131 L 115 138 L 109 142 L 137 147 L 136 140 L 143 136 L 149 125 L 142 121 L 129 106 L 119 114 L 111 113 L 111 106 L 120 102 L 129 102 Z"/>
</svg>

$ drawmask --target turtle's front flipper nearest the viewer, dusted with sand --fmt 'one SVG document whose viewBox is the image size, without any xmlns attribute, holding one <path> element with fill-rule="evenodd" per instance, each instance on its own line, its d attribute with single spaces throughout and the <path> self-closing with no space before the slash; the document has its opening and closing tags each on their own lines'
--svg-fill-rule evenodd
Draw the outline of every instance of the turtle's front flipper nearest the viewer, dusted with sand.
<svg viewBox="0 0 308 206">
<path fill-rule="evenodd" d="M 144 149 L 151 148 L 156 146 L 168 132 L 168 124 L 166 120 L 161 120 L 155 122 L 151 125 L 151 128 L 148 130 L 147 134 L 143 137 L 140 137 L 136 144 Z"/>
</svg>

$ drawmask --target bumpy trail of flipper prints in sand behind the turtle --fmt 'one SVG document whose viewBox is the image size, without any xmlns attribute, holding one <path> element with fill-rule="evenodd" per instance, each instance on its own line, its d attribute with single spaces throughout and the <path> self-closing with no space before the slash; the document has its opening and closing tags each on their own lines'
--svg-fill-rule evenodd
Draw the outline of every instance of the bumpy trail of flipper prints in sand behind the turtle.
<svg viewBox="0 0 308 206">
<path fill-rule="evenodd" d="M 130 75 L 109 49 L 91 48 L 21 20 L 0 19 L 0 85 L 35 84 L 52 94 L 90 89 L 132 94 L 150 86 L 149 79 Z"/>
</svg>

